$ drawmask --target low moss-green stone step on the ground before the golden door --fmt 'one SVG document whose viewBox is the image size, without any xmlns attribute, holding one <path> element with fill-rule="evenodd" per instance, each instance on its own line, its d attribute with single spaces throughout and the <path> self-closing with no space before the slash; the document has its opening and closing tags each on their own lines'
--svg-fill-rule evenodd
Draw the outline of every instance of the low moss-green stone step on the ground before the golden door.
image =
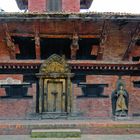
<svg viewBox="0 0 140 140">
<path fill-rule="evenodd" d="M 32 138 L 79 138 L 80 129 L 34 129 L 31 131 Z"/>
</svg>

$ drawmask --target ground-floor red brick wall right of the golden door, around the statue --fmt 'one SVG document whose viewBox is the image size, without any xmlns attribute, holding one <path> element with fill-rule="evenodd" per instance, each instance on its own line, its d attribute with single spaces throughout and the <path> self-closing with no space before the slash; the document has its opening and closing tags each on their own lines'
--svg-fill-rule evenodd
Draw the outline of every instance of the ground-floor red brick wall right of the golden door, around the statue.
<svg viewBox="0 0 140 140">
<path fill-rule="evenodd" d="M 122 76 L 125 81 L 126 90 L 129 93 L 129 116 L 134 113 L 140 114 L 140 88 L 133 87 L 133 81 L 140 81 L 140 76 Z M 87 83 L 92 84 L 108 84 L 108 87 L 104 88 L 104 95 L 108 95 L 108 98 L 77 98 L 76 110 L 85 117 L 111 117 L 111 94 L 116 88 L 116 82 L 118 76 L 106 76 L 106 75 L 88 75 L 86 77 Z M 75 96 L 82 95 L 82 91 L 76 85 L 73 86 Z"/>
</svg>

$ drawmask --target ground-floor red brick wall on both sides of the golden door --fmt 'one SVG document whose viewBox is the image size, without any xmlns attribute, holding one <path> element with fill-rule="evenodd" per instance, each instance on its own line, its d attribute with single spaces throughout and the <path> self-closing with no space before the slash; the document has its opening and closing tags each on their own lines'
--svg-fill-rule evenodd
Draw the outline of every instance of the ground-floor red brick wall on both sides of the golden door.
<svg viewBox="0 0 140 140">
<path fill-rule="evenodd" d="M 8 75 L 15 79 L 22 79 L 22 75 Z M 1 75 L 0 79 L 5 79 L 7 75 Z M 129 93 L 129 116 L 134 113 L 140 114 L 140 88 L 133 87 L 133 81 L 140 81 L 140 76 L 123 76 L 122 79 L 126 83 L 126 90 Z M 74 101 L 75 109 L 84 117 L 111 117 L 111 94 L 116 88 L 118 76 L 107 75 L 88 75 L 86 77 L 87 83 L 94 84 L 108 84 L 104 89 L 104 95 L 108 98 L 76 98 Z M 0 90 L 0 95 L 4 95 L 4 91 Z M 82 95 L 81 88 L 76 84 L 72 87 L 74 96 Z M 32 95 L 33 99 L 0 99 L 0 118 L 20 119 L 26 118 L 35 112 L 36 109 L 36 85 L 33 84 L 28 89 L 28 95 Z"/>
</svg>

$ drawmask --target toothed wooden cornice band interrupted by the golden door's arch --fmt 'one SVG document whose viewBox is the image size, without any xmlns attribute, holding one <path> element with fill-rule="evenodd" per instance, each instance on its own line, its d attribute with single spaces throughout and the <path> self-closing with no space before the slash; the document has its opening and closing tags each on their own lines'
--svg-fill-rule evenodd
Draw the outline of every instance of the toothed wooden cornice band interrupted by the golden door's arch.
<svg viewBox="0 0 140 140">
<path fill-rule="evenodd" d="M 38 70 L 43 63 L 43 60 L 12 60 L 0 62 L 0 70 L 8 69 L 36 69 Z M 140 63 L 112 63 L 112 62 L 97 62 L 89 60 L 69 60 L 68 64 L 73 70 L 115 70 L 115 71 L 140 71 Z"/>
</svg>

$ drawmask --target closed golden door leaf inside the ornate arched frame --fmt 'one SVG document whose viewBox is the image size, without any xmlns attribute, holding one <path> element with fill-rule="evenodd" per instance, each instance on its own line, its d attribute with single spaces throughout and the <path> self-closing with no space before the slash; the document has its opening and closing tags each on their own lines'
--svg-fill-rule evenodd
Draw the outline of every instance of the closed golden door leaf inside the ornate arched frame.
<svg viewBox="0 0 140 140">
<path fill-rule="evenodd" d="M 66 97 L 62 81 L 47 81 L 44 88 L 44 112 L 65 112 Z"/>
</svg>

